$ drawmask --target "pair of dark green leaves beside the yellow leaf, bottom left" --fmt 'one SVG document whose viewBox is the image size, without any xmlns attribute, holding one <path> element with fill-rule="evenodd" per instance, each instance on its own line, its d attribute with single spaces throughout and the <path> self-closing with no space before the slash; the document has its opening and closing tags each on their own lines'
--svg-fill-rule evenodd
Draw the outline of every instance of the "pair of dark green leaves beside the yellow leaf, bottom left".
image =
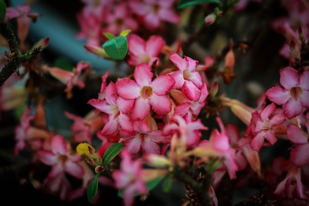
<svg viewBox="0 0 309 206">
<path fill-rule="evenodd" d="M 113 145 L 111 145 L 104 153 L 103 157 L 102 157 L 102 166 L 106 166 L 107 164 L 109 164 L 115 157 L 116 155 L 118 155 L 120 153 L 120 151 L 123 148 L 123 144 L 122 143 L 115 143 Z M 97 194 L 98 191 L 98 182 L 99 182 L 99 176 L 101 174 L 97 173 L 91 180 L 91 182 L 88 185 L 87 188 L 87 199 L 89 201 L 89 203 L 92 203 L 95 195 Z"/>
</svg>

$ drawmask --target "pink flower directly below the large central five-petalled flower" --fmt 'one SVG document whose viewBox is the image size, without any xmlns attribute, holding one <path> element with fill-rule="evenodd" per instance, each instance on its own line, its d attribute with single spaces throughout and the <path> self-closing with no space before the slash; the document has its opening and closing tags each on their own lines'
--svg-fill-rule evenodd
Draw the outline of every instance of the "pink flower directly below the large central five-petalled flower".
<svg viewBox="0 0 309 206">
<path fill-rule="evenodd" d="M 161 154 L 159 143 L 167 144 L 169 138 L 162 135 L 161 130 L 151 130 L 149 126 L 141 120 L 133 122 L 133 131 L 120 130 L 120 137 L 125 139 L 124 146 L 131 154 L 137 154 L 140 151 L 143 154 Z"/>
</svg>

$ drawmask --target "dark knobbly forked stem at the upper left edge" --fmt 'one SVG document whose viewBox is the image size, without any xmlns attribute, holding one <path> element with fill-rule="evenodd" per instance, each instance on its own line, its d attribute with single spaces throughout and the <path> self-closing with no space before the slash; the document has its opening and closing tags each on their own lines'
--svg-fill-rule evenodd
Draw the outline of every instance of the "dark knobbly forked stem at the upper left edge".
<svg viewBox="0 0 309 206">
<path fill-rule="evenodd" d="M 14 73 L 18 70 L 21 63 L 25 61 L 30 61 L 36 57 L 39 52 L 41 52 L 41 47 L 34 48 L 32 52 L 26 54 L 20 54 L 18 50 L 18 42 L 14 35 L 13 30 L 5 23 L 2 17 L 0 17 L 0 34 L 7 40 L 10 53 L 6 54 L 8 57 L 7 64 L 4 65 L 0 71 L 0 86 Z"/>
</svg>

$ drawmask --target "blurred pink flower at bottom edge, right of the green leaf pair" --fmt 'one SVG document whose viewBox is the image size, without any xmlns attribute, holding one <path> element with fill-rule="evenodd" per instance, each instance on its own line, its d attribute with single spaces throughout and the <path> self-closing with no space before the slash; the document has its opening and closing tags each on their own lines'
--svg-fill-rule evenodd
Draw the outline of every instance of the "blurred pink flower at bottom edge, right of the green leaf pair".
<svg viewBox="0 0 309 206">
<path fill-rule="evenodd" d="M 120 170 L 113 172 L 116 188 L 122 189 L 122 199 L 124 206 L 133 206 L 136 193 L 147 194 L 148 189 L 142 179 L 141 159 L 132 161 L 131 154 L 121 151 L 122 160 Z"/>
</svg>

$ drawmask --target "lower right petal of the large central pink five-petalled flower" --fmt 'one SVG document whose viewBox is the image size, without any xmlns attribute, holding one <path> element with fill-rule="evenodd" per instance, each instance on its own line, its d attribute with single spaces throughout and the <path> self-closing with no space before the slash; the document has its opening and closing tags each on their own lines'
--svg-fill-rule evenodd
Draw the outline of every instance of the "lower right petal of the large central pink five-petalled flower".
<svg viewBox="0 0 309 206">
<path fill-rule="evenodd" d="M 153 94 L 149 99 L 149 104 L 152 106 L 154 112 L 160 115 L 165 115 L 172 110 L 172 103 L 165 95 L 158 96 Z"/>
</svg>

